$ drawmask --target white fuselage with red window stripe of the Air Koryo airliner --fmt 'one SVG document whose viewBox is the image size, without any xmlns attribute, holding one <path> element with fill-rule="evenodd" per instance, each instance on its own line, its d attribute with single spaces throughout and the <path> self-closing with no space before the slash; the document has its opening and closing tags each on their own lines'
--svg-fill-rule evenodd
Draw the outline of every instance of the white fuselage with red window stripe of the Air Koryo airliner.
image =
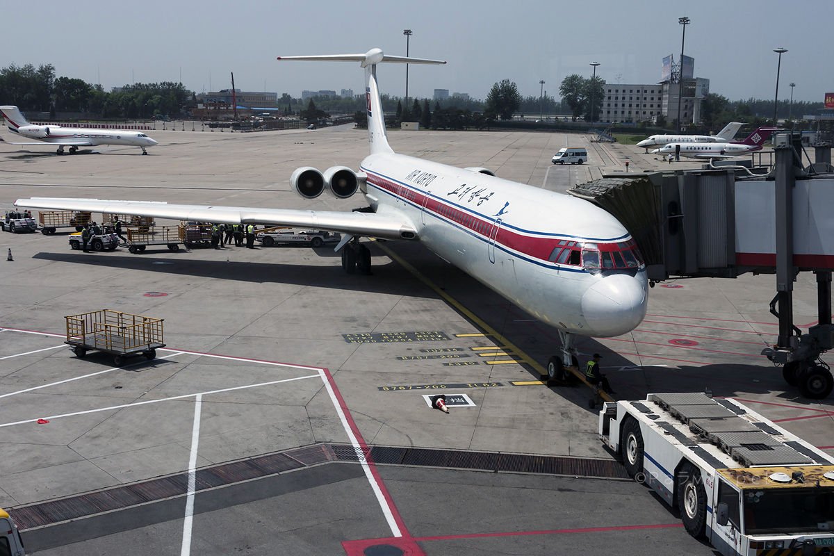
<svg viewBox="0 0 834 556">
<path fill-rule="evenodd" d="M 601 208 L 399 154 L 372 154 L 360 168 L 372 207 L 405 213 L 427 248 L 543 322 L 608 337 L 645 316 L 645 265 L 630 234 Z M 605 253 L 600 268 L 588 266 L 596 250 Z"/>
</svg>

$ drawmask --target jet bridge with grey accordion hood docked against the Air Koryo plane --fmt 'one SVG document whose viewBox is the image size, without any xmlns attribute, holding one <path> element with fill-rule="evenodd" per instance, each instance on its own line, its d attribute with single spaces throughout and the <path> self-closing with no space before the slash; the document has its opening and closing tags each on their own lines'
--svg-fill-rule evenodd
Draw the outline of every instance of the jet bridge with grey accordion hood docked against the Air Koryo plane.
<svg viewBox="0 0 834 556">
<path fill-rule="evenodd" d="M 786 382 L 807 398 L 834 388 L 821 353 L 834 348 L 834 168 L 830 138 L 814 159 L 799 134 L 776 142 L 769 168 L 713 166 L 674 173 L 617 174 L 568 191 L 605 208 L 628 228 L 646 259 L 650 283 L 670 278 L 776 274 L 771 313 L 779 336 L 762 354 L 781 364 Z M 793 323 L 796 274 L 816 274 L 818 324 Z"/>
</svg>

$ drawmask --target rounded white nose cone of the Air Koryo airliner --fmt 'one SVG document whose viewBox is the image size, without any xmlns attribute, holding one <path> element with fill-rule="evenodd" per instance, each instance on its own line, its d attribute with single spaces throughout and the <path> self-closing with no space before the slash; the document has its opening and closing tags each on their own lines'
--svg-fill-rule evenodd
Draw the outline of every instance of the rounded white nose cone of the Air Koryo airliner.
<svg viewBox="0 0 834 556">
<path fill-rule="evenodd" d="M 614 274 L 582 295 L 582 314 L 593 336 L 619 336 L 641 323 L 647 301 L 645 280 Z"/>
</svg>

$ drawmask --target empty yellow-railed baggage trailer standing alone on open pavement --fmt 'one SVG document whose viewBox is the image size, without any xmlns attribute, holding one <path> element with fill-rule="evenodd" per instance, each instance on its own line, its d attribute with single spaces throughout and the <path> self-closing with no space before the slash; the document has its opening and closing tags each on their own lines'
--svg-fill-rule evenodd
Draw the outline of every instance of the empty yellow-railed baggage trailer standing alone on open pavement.
<svg viewBox="0 0 834 556">
<path fill-rule="evenodd" d="M 163 318 L 143 317 L 131 313 L 102 309 L 64 317 L 67 320 L 67 339 L 78 358 L 88 351 L 98 350 L 113 355 L 117 367 L 126 358 L 143 355 L 148 360 L 156 357 L 156 350 L 164 348 Z"/>
</svg>

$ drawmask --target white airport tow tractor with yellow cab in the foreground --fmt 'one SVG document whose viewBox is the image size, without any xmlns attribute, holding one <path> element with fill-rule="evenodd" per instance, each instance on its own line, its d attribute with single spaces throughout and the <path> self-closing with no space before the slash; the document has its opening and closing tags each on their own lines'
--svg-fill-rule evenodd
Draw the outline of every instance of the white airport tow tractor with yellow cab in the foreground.
<svg viewBox="0 0 834 556">
<path fill-rule="evenodd" d="M 606 402 L 603 443 L 721 554 L 834 554 L 834 458 L 733 399 Z"/>
</svg>

